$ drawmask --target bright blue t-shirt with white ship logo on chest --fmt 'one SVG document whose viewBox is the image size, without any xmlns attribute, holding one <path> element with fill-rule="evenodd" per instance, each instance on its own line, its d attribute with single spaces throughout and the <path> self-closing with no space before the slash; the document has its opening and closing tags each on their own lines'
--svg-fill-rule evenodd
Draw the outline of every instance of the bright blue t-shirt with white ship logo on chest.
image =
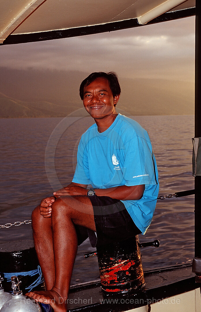
<svg viewBox="0 0 201 312">
<path fill-rule="evenodd" d="M 156 159 L 146 130 L 121 114 L 102 133 L 93 124 L 80 139 L 72 182 L 91 184 L 93 188 L 145 184 L 141 199 L 122 200 L 136 226 L 145 234 L 159 192 Z"/>
</svg>

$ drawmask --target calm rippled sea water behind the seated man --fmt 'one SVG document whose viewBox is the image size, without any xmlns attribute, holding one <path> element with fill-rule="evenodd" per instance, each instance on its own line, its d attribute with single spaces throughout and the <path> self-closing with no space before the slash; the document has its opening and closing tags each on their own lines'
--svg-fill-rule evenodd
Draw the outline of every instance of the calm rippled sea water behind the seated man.
<svg viewBox="0 0 201 312">
<path fill-rule="evenodd" d="M 193 189 L 194 116 L 133 118 L 150 135 L 159 171 L 159 194 Z M 0 122 L 0 224 L 5 224 L 30 219 L 42 198 L 71 182 L 80 136 L 93 119 L 16 118 Z M 0 229 L 0 243 L 31 236 L 31 225 Z M 194 196 L 158 200 L 151 226 L 139 238 L 141 242 L 160 240 L 159 248 L 141 249 L 145 271 L 190 263 L 194 257 Z M 88 240 L 79 246 L 71 284 L 98 279 L 97 258 L 83 257 L 92 250 Z"/>
</svg>

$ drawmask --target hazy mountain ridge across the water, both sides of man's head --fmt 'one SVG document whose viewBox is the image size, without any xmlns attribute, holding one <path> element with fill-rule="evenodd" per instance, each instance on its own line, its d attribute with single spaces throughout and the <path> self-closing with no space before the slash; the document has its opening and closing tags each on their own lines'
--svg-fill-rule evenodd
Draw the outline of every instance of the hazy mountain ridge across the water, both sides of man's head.
<svg viewBox="0 0 201 312">
<path fill-rule="evenodd" d="M 65 117 L 82 108 L 84 72 L 0 68 L 0 117 Z M 131 115 L 194 114 L 194 83 L 119 77 L 118 108 Z"/>
</svg>

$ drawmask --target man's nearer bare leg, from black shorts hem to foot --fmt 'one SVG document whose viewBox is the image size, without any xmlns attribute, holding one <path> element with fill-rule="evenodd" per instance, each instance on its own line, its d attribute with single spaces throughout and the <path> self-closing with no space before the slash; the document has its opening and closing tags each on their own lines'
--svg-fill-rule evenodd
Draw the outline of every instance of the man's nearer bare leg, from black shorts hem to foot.
<svg viewBox="0 0 201 312">
<path fill-rule="evenodd" d="M 74 224 L 95 231 L 93 207 L 87 196 L 62 196 L 52 204 L 52 234 L 54 246 L 55 284 L 50 291 L 30 292 L 37 301 L 49 303 L 55 312 L 66 311 L 74 260 L 77 252 L 77 235 Z M 39 236 L 38 236 L 39 237 Z M 51 249 L 51 242 L 50 249 Z M 47 259 L 40 257 L 45 276 L 52 270 Z M 48 267 L 48 269 L 45 268 Z M 50 269 L 50 271 L 49 271 Z M 49 271 L 49 272 L 48 272 Z M 54 301 L 55 300 L 55 301 Z M 63 304 L 62 304 L 63 303 Z"/>
</svg>

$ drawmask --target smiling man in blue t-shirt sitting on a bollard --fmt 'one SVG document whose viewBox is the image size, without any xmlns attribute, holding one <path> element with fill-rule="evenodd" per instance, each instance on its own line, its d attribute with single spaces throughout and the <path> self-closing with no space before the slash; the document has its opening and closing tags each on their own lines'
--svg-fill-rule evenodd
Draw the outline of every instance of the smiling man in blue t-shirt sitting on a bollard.
<svg viewBox="0 0 201 312">
<path fill-rule="evenodd" d="M 80 97 L 95 124 L 79 142 L 72 183 L 43 199 L 32 213 L 46 291 L 27 295 L 49 303 L 55 312 L 66 311 L 78 243 L 88 234 L 93 247 L 145 234 L 153 217 L 159 191 L 156 160 L 146 130 L 117 114 L 120 93 L 113 72 L 95 72 L 83 80 Z"/>
</svg>

